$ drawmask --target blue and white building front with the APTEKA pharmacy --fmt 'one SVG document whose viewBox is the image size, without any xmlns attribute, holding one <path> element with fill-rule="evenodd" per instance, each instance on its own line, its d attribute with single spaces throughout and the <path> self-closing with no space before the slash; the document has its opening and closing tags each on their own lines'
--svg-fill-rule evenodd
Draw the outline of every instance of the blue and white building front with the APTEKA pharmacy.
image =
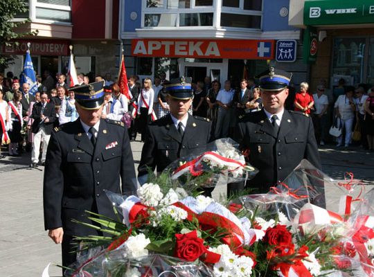
<svg viewBox="0 0 374 277">
<path fill-rule="evenodd" d="M 167 79 L 209 76 L 237 86 L 269 63 L 305 78 L 299 56 L 276 62 L 278 39 L 299 47 L 299 28 L 288 25 L 289 0 L 121 0 L 120 9 L 127 73 L 141 79 L 164 72 Z"/>
</svg>

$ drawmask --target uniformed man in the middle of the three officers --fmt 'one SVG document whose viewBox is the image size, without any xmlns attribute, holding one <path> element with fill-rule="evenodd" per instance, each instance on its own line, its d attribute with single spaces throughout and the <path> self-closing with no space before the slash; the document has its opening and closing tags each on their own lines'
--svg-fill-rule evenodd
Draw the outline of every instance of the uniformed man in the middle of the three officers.
<svg viewBox="0 0 374 277">
<path fill-rule="evenodd" d="M 202 152 L 211 141 L 209 119 L 188 114 L 193 101 L 191 78 L 164 82 L 163 87 L 170 114 L 148 125 L 138 168 L 141 184 L 147 179 L 148 168 L 161 172 L 180 157 Z M 205 191 L 209 195 L 211 189 Z"/>
</svg>

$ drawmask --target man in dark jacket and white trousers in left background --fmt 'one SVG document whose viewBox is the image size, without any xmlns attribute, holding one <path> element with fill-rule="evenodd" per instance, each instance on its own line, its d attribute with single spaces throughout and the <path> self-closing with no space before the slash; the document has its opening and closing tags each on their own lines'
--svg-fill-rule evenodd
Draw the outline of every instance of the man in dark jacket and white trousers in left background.
<svg viewBox="0 0 374 277">
<path fill-rule="evenodd" d="M 46 150 L 53 123 L 56 119 L 55 105 L 48 103 L 48 95 L 46 92 L 40 94 L 40 102 L 37 102 L 33 107 L 33 113 L 30 116 L 34 119 L 31 130 L 34 134 L 33 152 L 31 153 L 31 166 L 37 167 L 39 162 L 40 143 L 43 141 L 42 165 L 46 161 Z"/>
</svg>

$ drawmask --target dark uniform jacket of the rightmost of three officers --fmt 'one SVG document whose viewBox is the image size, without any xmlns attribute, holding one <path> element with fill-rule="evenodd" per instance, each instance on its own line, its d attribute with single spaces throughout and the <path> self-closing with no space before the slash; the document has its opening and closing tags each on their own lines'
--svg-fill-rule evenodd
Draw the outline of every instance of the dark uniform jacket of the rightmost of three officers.
<svg viewBox="0 0 374 277">
<path fill-rule="evenodd" d="M 248 154 L 249 163 L 259 170 L 247 186 L 259 188 L 260 193 L 283 181 L 302 159 L 321 168 L 312 120 L 298 111 L 284 111 L 278 136 L 263 109 L 246 114 L 234 139 Z"/>
</svg>

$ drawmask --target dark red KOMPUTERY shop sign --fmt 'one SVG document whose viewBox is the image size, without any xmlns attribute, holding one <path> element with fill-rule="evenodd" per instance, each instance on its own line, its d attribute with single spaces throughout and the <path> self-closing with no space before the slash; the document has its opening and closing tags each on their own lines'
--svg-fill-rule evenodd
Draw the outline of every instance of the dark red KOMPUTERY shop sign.
<svg viewBox="0 0 374 277">
<path fill-rule="evenodd" d="M 24 55 L 27 43 L 30 42 L 31 55 L 66 56 L 69 55 L 69 44 L 60 40 L 23 40 L 16 45 L 10 42 L 10 46 L 4 47 L 4 53 L 9 55 Z"/>
</svg>

